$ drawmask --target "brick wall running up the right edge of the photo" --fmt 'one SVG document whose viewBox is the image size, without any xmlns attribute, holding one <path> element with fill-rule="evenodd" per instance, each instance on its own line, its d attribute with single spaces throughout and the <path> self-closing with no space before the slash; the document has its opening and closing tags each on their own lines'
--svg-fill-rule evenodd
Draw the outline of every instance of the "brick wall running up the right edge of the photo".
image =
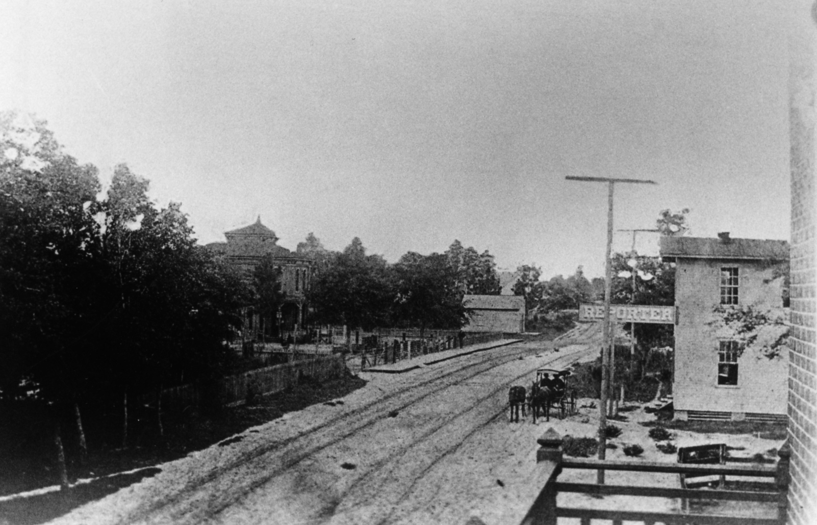
<svg viewBox="0 0 817 525">
<path fill-rule="evenodd" d="M 792 447 L 788 523 L 817 523 L 817 358 L 815 358 L 815 47 L 814 7 L 792 0 L 789 42 L 791 136 L 792 337 L 788 434 Z"/>
</svg>

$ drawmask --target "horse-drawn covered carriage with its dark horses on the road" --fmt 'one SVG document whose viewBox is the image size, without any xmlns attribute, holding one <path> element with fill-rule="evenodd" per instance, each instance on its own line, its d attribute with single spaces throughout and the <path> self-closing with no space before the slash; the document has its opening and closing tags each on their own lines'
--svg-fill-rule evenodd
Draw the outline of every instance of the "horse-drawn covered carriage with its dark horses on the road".
<svg viewBox="0 0 817 525">
<path fill-rule="evenodd" d="M 546 420 L 551 420 L 551 408 L 559 411 L 560 419 L 576 413 L 576 390 L 569 388 L 569 370 L 559 370 L 556 368 L 539 368 L 536 371 L 536 380 L 531 385 L 525 399 L 525 388 L 512 386 L 508 392 L 508 402 L 511 405 L 511 421 L 514 419 L 516 409 L 516 421 L 519 421 L 519 407 L 522 407 L 522 415 L 525 416 L 525 404 L 530 407 L 530 412 L 534 415 L 534 423 L 542 411 Z M 521 398 L 520 398 L 521 396 Z"/>
</svg>

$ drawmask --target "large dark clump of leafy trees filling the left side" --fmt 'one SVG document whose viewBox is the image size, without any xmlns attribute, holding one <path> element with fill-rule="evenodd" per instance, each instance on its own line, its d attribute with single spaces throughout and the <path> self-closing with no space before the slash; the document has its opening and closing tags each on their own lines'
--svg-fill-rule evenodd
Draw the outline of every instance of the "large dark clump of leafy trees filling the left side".
<svg viewBox="0 0 817 525">
<path fill-rule="evenodd" d="M 247 288 L 196 247 L 148 182 L 65 155 L 45 122 L 0 115 L 0 389 L 54 406 L 212 376 L 230 360 Z"/>
</svg>

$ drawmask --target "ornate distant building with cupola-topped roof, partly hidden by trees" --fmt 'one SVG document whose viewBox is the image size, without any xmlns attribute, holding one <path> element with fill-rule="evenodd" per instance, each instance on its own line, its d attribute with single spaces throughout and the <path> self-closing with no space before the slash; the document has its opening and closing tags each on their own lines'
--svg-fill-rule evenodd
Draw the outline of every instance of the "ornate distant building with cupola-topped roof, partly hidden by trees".
<svg viewBox="0 0 817 525">
<path fill-rule="evenodd" d="M 281 291 L 286 294 L 284 304 L 279 309 L 281 328 L 291 331 L 296 324 L 302 326 L 313 261 L 279 246 L 275 232 L 261 224 L 260 216 L 254 224 L 230 230 L 224 236 L 226 242 L 211 242 L 207 245 L 208 249 L 223 256 L 231 265 L 243 269 L 248 278 L 264 256 L 272 256 L 275 266 L 281 269 Z M 278 325 L 279 318 L 261 318 L 252 312 L 248 315 L 248 328 L 253 332 L 275 336 Z"/>
</svg>

